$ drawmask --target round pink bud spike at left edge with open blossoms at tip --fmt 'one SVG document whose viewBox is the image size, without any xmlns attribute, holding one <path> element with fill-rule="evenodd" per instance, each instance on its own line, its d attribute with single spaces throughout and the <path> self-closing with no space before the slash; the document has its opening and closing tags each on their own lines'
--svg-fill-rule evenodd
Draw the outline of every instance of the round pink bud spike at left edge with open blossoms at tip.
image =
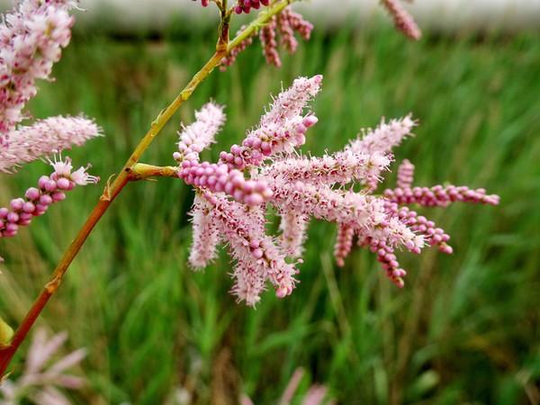
<svg viewBox="0 0 540 405">
<path fill-rule="evenodd" d="M 85 167 L 73 171 L 71 159 L 50 161 L 51 175 L 42 175 L 38 187 L 30 187 L 24 198 L 15 198 L 9 207 L 0 208 L 0 238 L 14 237 L 20 227 L 28 226 L 34 217 L 43 215 L 49 205 L 66 199 L 76 185 L 95 184 L 98 177 L 88 175 Z"/>
</svg>

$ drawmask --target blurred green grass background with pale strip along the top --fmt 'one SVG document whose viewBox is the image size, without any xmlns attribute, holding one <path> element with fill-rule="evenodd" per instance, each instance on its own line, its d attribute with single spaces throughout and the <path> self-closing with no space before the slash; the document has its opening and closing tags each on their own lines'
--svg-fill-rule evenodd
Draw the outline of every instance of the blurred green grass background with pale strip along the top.
<svg viewBox="0 0 540 405">
<path fill-rule="evenodd" d="M 7 2 L 4 2 L 4 4 Z M 192 191 L 179 181 L 130 184 L 98 224 L 39 320 L 86 347 L 81 404 L 234 404 L 247 394 L 274 404 L 302 367 L 298 395 L 324 384 L 343 404 L 537 404 L 540 401 L 540 2 L 435 1 L 410 6 L 425 29 L 413 43 L 392 30 L 375 2 L 302 4 L 317 22 L 284 67 L 258 44 L 214 72 L 143 157 L 173 163 L 180 121 L 214 99 L 228 123 L 205 157 L 243 138 L 270 94 L 296 76 L 322 73 L 320 117 L 307 145 L 342 148 L 360 128 L 409 112 L 416 137 L 397 149 L 416 184 L 486 187 L 499 207 L 424 210 L 452 236 L 455 254 L 403 254 L 403 290 L 374 256 L 355 251 L 335 266 L 336 229 L 312 221 L 301 284 L 257 310 L 228 293 L 226 252 L 203 273 L 186 266 Z M 347 3 L 347 5 L 345 5 Z M 102 183 L 2 239 L 0 314 L 16 325 L 138 139 L 211 55 L 215 10 L 187 0 L 87 0 L 74 38 L 40 83 L 37 118 L 85 112 L 106 134 L 70 153 Z M 5 9 L 5 7 L 4 7 Z M 235 29 L 240 22 L 235 23 Z M 49 168 L 0 176 L 0 203 Z M 395 174 L 388 175 L 392 185 Z M 276 225 L 274 226 L 274 228 Z M 24 354 L 14 361 L 21 372 Z"/>
</svg>

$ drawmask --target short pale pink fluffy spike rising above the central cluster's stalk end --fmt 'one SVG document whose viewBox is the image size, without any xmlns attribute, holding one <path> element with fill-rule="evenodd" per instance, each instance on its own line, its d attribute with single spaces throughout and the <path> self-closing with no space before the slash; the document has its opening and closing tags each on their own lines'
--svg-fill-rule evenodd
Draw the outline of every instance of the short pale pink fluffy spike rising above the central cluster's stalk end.
<svg viewBox="0 0 540 405">
<path fill-rule="evenodd" d="M 222 105 L 204 104 L 201 110 L 195 112 L 195 121 L 178 132 L 178 151 L 173 155 L 175 160 L 198 161 L 202 150 L 215 142 L 225 118 Z"/>
</svg>

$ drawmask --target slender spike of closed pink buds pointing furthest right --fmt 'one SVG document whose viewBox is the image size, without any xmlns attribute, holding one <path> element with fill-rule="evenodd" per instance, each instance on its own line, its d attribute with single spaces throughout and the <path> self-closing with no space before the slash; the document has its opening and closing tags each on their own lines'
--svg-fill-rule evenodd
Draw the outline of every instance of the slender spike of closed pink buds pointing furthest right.
<svg viewBox="0 0 540 405">
<path fill-rule="evenodd" d="M 450 202 L 473 202 L 497 205 L 499 195 L 486 194 L 485 189 L 473 190 L 466 185 L 436 185 L 434 187 L 407 187 L 385 190 L 384 196 L 399 204 L 418 203 L 425 207 L 446 207 Z"/>
</svg>

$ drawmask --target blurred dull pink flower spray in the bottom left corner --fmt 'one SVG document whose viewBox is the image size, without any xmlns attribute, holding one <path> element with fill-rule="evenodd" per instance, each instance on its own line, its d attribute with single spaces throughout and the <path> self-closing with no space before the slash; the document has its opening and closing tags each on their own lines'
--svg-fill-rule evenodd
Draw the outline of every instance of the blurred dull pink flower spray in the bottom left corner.
<svg viewBox="0 0 540 405">
<path fill-rule="evenodd" d="M 54 356 L 66 340 L 66 332 L 48 338 L 44 329 L 38 329 L 31 340 L 23 374 L 16 380 L 8 378 L 0 384 L 0 404 L 14 405 L 29 400 L 40 405 L 70 403 L 60 389 L 84 387 L 85 378 L 67 374 L 67 371 L 80 364 L 86 350 L 77 349 L 55 360 Z"/>
</svg>

